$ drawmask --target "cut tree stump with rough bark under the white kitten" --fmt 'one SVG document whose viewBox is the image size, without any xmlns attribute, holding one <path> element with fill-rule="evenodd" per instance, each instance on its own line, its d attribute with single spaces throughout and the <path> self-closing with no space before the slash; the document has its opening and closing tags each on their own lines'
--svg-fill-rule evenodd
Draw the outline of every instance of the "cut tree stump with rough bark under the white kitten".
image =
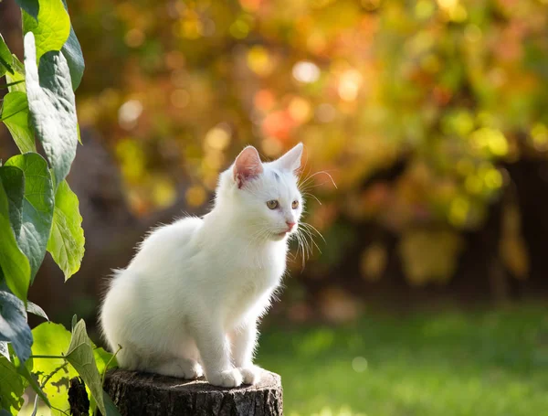
<svg viewBox="0 0 548 416">
<path fill-rule="evenodd" d="M 263 371 L 255 386 L 224 389 L 204 378 L 175 379 L 114 369 L 104 389 L 122 416 L 279 416 L 283 414 L 281 380 Z"/>
</svg>

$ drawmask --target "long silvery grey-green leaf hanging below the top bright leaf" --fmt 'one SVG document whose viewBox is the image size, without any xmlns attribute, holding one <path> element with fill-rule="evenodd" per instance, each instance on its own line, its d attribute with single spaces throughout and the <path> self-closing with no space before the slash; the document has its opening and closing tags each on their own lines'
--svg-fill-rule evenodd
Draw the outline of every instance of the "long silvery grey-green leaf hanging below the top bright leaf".
<svg viewBox="0 0 548 416">
<path fill-rule="evenodd" d="M 38 77 L 34 49 L 34 36 L 27 33 L 25 69 L 28 107 L 56 183 L 60 184 L 68 175 L 78 145 L 74 91 L 70 84 L 67 59 L 60 52 L 47 52 L 40 62 Z"/>
</svg>

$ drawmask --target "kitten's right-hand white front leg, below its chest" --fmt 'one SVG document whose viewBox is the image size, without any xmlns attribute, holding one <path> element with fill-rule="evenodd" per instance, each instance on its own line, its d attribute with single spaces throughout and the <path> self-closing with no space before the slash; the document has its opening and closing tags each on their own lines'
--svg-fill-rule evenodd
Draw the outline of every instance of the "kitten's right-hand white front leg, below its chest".
<svg viewBox="0 0 548 416">
<path fill-rule="evenodd" d="M 261 368 L 253 364 L 253 354 L 257 346 L 257 320 L 250 320 L 230 333 L 234 365 L 240 370 L 245 384 L 256 384 L 260 379 Z"/>
</svg>

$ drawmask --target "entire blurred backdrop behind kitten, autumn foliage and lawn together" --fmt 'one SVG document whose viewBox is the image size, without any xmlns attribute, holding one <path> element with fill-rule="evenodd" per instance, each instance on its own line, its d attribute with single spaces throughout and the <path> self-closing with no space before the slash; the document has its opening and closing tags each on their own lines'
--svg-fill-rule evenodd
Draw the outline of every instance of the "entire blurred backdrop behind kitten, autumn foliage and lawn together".
<svg viewBox="0 0 548 416">
<path fill-rule="evenodd" d="M 545 411 L 545 307 L 406 311 L 548 294 L 546 0 L 68 3 L 87 65 L 69 176 L 86 255 L 79 279 L 37 279 L 30 299 L 93 321 L 110 270 L 158 222 L 204 214 L 244 145 L 275 158 L 301 141 L 304 220 L 325 241 L 290 262 L 259 352 L 288 413 Z M 0 2 L 21 55 L 16 12 Z M 401 320 L 359 318 L 378 307 Z M 343 325 L 286 345 L 279 322 Z"/>
</svg>

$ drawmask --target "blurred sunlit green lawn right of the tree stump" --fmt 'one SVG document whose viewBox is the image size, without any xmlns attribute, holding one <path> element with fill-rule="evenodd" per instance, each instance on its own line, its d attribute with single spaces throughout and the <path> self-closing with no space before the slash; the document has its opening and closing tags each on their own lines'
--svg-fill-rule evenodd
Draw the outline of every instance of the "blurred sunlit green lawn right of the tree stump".
<svg viewBox="0 0 548 416">
<path fill-rule="evenodd" d="M 548 308 L 266 328 L 287 416 L 548 415 Z"/>
</svg>

